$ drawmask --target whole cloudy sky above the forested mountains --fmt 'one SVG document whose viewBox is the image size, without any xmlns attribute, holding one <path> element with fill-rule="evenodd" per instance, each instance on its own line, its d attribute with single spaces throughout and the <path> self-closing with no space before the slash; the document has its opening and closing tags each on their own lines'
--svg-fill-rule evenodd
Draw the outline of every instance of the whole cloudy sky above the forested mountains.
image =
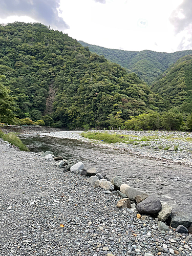
<svg viewBox="0 0 192 256">
<path fill-rule="evenodd" d="M 111 49 L 192 49 L 192 0 L 1 0 L 0 23 L 16 21 Z"/>
</svg>

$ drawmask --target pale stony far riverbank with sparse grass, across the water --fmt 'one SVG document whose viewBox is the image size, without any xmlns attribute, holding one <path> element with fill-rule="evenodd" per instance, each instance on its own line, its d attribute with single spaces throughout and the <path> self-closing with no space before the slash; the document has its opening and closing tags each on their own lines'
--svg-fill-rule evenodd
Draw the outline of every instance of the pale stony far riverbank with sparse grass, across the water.
<svg viewBox="0 0 192 256">
<path fill-rule="evenodd" d="M 127 140 L 132 139 L 132 144 L 128 143 L 103 143 L 87 139 L 81 136 L 82 131 L 62 131 L 44 133 L 45 136 L 56 138 L 68 138 L 91 142 L 101 147 L 110 147 L 114 150 L 124 150 L 130 154 L 140 157 L 154 158 L 166 162 L 180 163 L 192 167 L 192 134 L 185 132 L 154 132 L 154 131 L 89 131 L 109 134 L 119 134 L 127 136 Z"/>
</svg>

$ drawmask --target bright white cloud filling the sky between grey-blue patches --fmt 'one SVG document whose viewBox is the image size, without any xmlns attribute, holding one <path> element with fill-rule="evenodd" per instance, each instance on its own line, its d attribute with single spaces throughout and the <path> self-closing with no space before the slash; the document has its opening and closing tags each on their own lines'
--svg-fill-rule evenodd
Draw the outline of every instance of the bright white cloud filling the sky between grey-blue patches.
<svg viewBox="0 0 192 256">
<path fill-rule="evenodd" d="M 49 1 L 59 3 L 59 0 Z M 63 30 L 64 32 L 89 44 L 130 51 L 147 49 L 172 52 L 177 51 L 178 47 L 190 46 L 190 38 L 185 29 L 175 34 L 174 26 L 169 21 L 173 11 L 177 10 L 182 2 L 182 0 L 60 0 L 56 14 L 70 26 L 70 29 Z M 59 9 L 62 12 L 59 12 Z M 180 10 L 178 13 L 182 18 L 183 12 Z M 14 18 L 20 20 L 22 17 Z M 10 17 L 9 20 L 13 22 L 14 18 Z M 25 22 L 26 19 L 25 17 Z M 0 19 L 0 22 L 3 22 L 3 19 Z M 54 24 L 46 25 L 53 27 Z"/>
</svg>

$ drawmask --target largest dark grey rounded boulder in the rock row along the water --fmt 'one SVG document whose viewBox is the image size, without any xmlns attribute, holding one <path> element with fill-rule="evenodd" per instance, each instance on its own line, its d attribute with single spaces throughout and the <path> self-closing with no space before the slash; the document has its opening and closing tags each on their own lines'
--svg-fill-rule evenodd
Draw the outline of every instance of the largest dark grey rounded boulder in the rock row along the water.
<svg viewBox="0 0 192 256">
<path fill-rule="evenodd" d="M 160 200 L 155 196 L 147 197 L 142 202 L 138 203 L 136 206 L 139 214 L 157 214 L 162 206 Z"/>
</svg>

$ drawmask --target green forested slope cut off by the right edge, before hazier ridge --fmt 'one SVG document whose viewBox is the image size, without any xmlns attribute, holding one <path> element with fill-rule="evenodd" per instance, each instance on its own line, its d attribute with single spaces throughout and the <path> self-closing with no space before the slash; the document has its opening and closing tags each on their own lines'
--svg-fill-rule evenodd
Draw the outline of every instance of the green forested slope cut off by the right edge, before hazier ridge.
<svg viewBox="0 0 192 256">
<path fill-rule="evenodd" d="M 152 90 L 169 99 L 186 114 L 192 110 L 192 55 L 180 58 L 152 84 Z"/>
</svg>

